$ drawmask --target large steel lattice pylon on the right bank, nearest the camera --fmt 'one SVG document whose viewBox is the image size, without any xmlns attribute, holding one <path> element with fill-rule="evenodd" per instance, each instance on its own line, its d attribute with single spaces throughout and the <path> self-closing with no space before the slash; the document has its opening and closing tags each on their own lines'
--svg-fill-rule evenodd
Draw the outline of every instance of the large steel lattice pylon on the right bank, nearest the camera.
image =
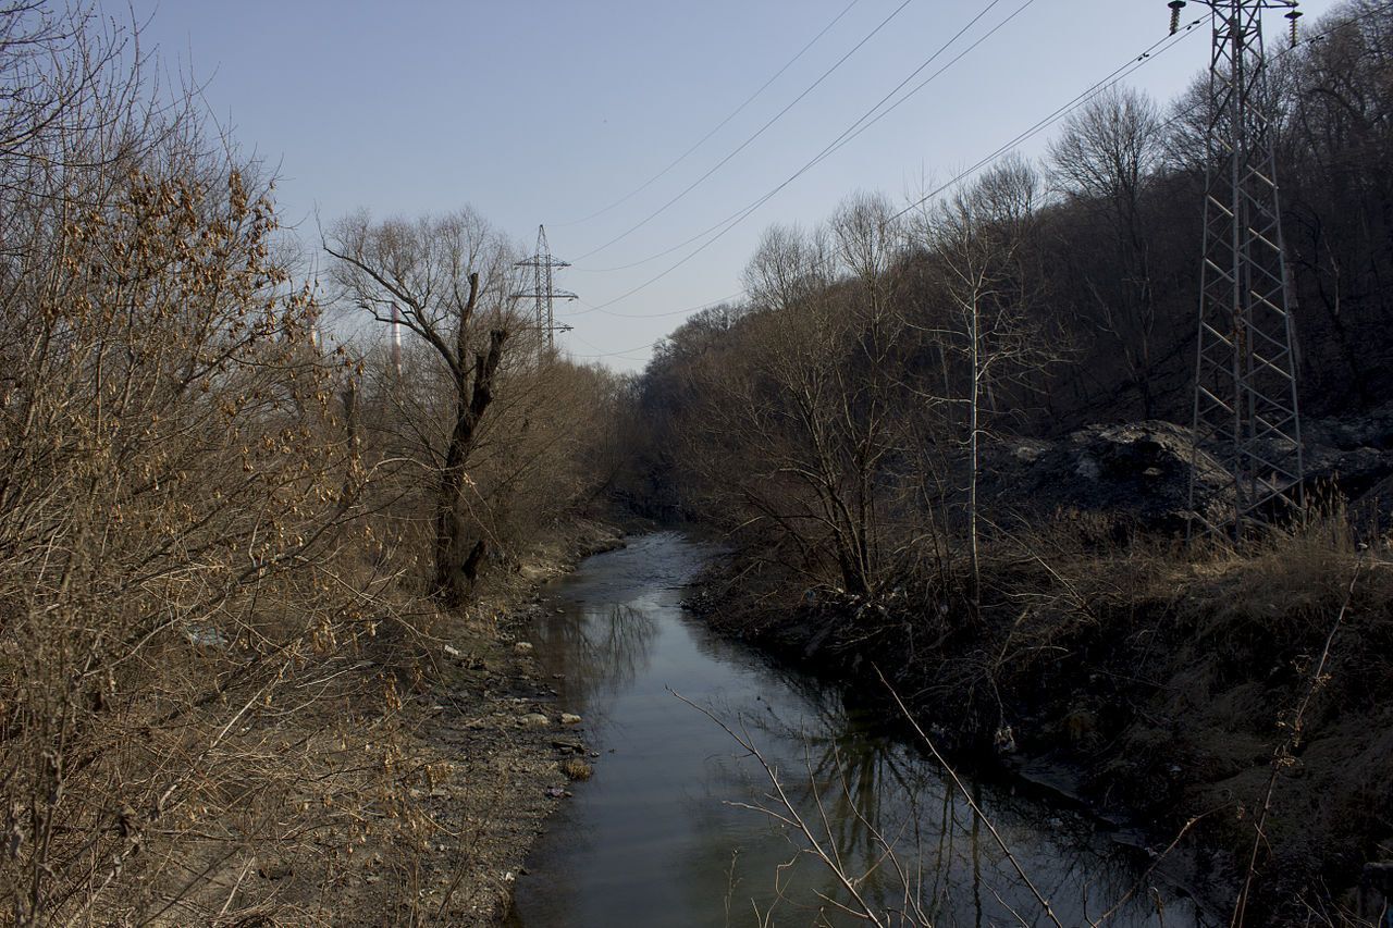
<svg viewBox="0 0 1393 928">
<path fill-rule="evenodd" d="M 1291 312 L 1295 295 L 1282 238 L 1262 17 L 1295 0 L 1201 0 L 1211 8 L 1209 157 L 1195 348 L 1194 457 L 1201 447 L 1233 475 L 1231 525 L 1195 507 L 1199 531 L 1248 527 L 1304 506 L 1301 417 Z M 1183 0 L 1173 0 L 1172 32 Z M 1194 531 L 1197 525 L 1191 525 Z"/>
</svg>

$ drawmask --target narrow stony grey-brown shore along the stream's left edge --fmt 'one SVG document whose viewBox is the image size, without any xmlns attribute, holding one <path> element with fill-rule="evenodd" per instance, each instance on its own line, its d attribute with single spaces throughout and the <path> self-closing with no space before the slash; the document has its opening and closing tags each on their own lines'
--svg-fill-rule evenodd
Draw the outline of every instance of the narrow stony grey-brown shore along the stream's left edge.
<svg viewBox="0 0 1393 928">
<path fill-rule="evenodd" d="M 542 584 L 620 545 L 607 525 L 567 532 L 479 603 L 497 617 L 496 634 L 442 644 L 440 673 L 418 697 L 429 716 L 421 738 L 451 762 L 453 776 L 421 797 L 440 835 L 419 861 L 419 886 L 394 888 L 415 893 L 435 924 L 496 925 L 543 819 L 570 796 L 570 782 L 589 773 L 584 719 L 556 704 L 525 638 Z"/>
</svg>

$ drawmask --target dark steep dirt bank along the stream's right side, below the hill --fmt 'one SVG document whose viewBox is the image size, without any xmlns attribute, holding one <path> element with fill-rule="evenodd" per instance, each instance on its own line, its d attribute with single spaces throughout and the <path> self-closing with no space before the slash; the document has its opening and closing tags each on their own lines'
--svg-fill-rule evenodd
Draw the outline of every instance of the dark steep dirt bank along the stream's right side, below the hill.
<svg viewBox="0 0 1393 928">
<path fill-rule="evenodd" d="M 1256 846 L 1245 924 L 1369 924 L 1393 860 L 1389 552 L 1332 536 L 1243 557 L 1043 550 L 988 557 L 979 616 L 943 588 L 794 588 L 738 555 L 692 605 L 862 691 L 885 672 L 944 745 L 1135 825 L 1158 851 L 1178 836 L 1172 854 L 1219 911 Z"/>
</svg>

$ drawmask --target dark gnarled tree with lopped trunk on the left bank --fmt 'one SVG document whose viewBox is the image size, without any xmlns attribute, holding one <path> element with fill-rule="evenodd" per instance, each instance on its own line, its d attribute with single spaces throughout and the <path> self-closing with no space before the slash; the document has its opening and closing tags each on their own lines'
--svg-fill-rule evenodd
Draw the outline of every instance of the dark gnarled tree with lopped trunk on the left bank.
<svg viewBox="0 0 1393 928">
<path fill-rule="evenodd" d="M 432 589 L 462 606 L 478 578 L 488 538 L 475 531 L 467 499 L 469 456 L 495 400 L 511 316 L 513 247 L 472 209 L 414 222 L 340 220 L 325 251 L 334 258 L 340 298 L 379 323 L 401 325 L 430 347 L 450 382 L 449 436 L 437 454 Z"/>
</svg>

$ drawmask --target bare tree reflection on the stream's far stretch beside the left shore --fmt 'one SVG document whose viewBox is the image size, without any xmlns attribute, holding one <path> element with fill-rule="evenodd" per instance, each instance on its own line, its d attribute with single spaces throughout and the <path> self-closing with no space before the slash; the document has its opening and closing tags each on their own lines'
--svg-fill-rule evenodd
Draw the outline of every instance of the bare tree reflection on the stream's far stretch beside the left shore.
<svg viewBox="0 0 1393 928">
<path fill-rule="evenodd" d="M 577 711 L 628 687 L 648 666 L 656 634 L 652 616 L 630 605 L 573 605 L 531 630 L 543 670 Z"/>
</svg>

